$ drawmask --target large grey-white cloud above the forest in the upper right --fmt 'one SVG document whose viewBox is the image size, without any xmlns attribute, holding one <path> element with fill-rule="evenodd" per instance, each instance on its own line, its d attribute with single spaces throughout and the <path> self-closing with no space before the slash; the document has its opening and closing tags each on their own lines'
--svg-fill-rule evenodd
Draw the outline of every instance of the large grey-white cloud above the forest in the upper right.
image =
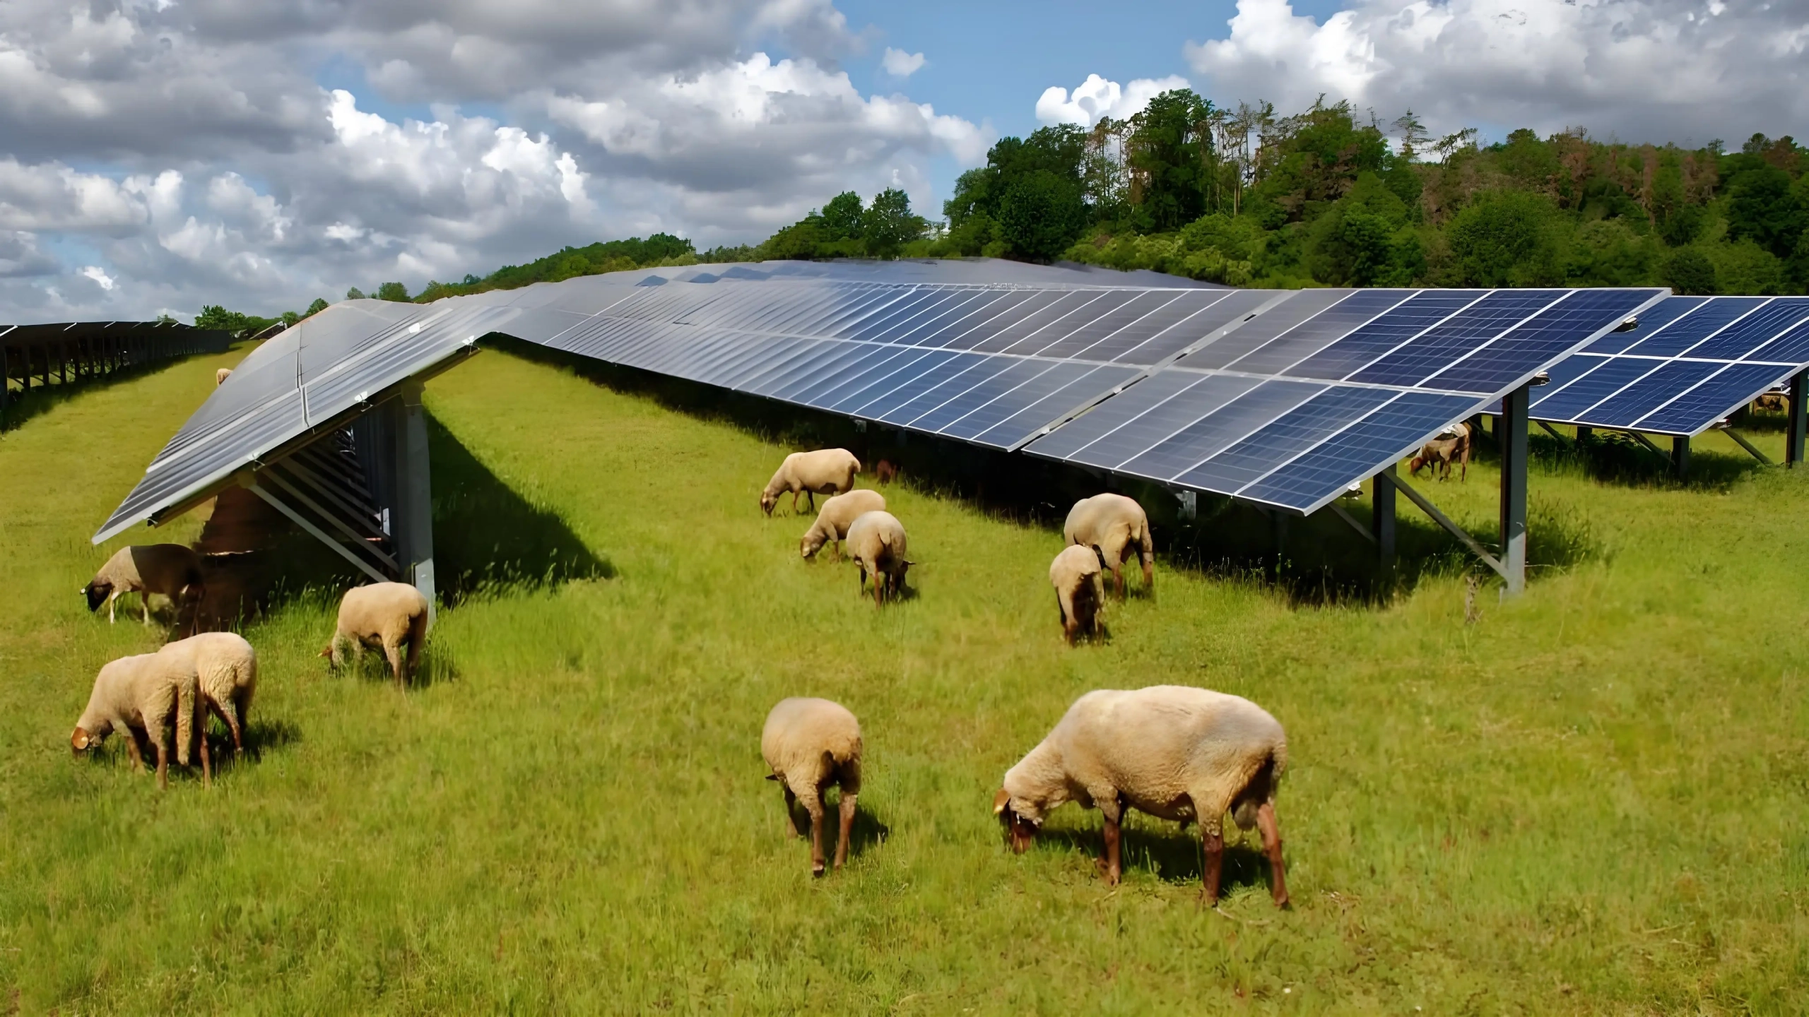
<svg viewBox="0 0 1809 1017">
<path fill-rule="evenodd" d="M 1189 43 L 1221 100 L 1292 110 L 1321 92 L 1435 130 L 1583 125 L 1628 141 L 1782 134 L 1809 114 L 1802 4 L 1713 0 L 1357 0 L 1322 24 L 1239 0 L 1223 40 Z"/>
</svg>

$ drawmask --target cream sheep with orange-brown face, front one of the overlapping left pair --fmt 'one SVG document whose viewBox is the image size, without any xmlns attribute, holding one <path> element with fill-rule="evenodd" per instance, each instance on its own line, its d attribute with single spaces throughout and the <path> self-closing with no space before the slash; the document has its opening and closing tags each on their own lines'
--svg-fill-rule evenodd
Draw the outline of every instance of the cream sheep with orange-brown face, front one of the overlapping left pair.
<svg viewBox="0 0 1809 1017">
<path fill-rule="evenodd" d="M 190 744 L 197 735 L 195 713 L 199 680 L 195 670 L 175 653 L 139 653 L 109 662 L 94 677 L 89 706 L 76 718 L 69 737 L 71 755 L 99 747 L 118 729 L 127 733 L 127 751 L 132 769 L 145 769 L 139 738 L 150 738 L 157 747 L 157 787 L 170 787 L 170 758 L 165 747 L 165 726 L 175 722 L 175 760 L 188 765 Z M 208 742 L 201 738 L 201 784 L 213 785 L 213 764 Z"/>
</svg>

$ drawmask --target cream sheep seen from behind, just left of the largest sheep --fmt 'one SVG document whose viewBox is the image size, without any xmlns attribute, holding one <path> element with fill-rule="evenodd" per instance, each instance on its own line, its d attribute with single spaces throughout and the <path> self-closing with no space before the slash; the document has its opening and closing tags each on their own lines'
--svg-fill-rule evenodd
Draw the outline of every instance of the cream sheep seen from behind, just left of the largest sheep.
<svg viewBox="0 0 1809 1017">
<path fill-rule="evenodd" d="M 848 861 L 854 800 L 861 793 L 861 722 L 827 699 L 781 699 L 760 731 L 760 755 L 785 793 L 785 836 L 798 836 L 792 807 L 810 814 L 810 874 L 823 874 L 823 789 L 841 787 L 836 869 Z"/>
</svg>

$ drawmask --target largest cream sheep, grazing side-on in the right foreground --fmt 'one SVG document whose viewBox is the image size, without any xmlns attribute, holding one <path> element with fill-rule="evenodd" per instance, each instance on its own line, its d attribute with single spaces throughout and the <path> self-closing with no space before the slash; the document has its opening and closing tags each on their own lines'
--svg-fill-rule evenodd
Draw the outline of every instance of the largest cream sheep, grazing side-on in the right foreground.
<svg viewBox="0 0 1809 1017">
<path fill-rule="evenodd" d="M 1275 785 L 1288 765 L 1288 737 L 1263 708 L 1236 695 L 1187 686 L 1100 689 L 1075 700 L 1049 737 L 1006 771 L 993 798 L 1022 854 L 1049 811 L 1064 802 L 1105 814 L 1105 881 L 1116 885 L 1118 823 L 1132 807 L 1163 820 L 1199 823 L 1207 865 L 1203 899 L 1219 899 L 1225 863 L 1221 822 L 1263 831 L 1275 907 L 1288 905 L 1275 823 Z"/>
</svg>

